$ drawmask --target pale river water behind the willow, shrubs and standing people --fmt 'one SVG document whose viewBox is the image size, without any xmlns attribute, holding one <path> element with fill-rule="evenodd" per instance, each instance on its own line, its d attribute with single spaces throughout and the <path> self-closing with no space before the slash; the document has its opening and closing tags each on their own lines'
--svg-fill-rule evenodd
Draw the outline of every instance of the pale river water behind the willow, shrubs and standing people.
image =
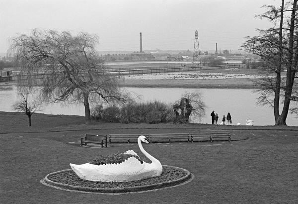
<svg viewBox="0 0 298 204">
<path fill-rule="evenodd" d="M 194 122 L 211 123 L 210 113 L 215 110 L 219 115 L 219 120 L 227 112 L 232 116 L 233 124 L 240 122 L 246 125 L 246 118 L 255 121 L 255 125 L 274 125 L 273 108 L 256 105 L 257 93 L 251 89 L 183 89 L 183 88 L 126 88 L 134 96 L 140 96 L 140 101 L 162 101 L 173 104 L 179 100 L 185 92 L 201 93 L 203 102 L 206 104 L 206 115 L 201 120 Z M 12 104 L 17 101 L 15 86 L 0 87 L 0 111 L 13 111 Z M 40 111 L 45 114 L 65 114 L 84 115 L 82 104 L 65 105 L 61 103 L 51 103 L 43 106 Z M 289 114 L 287 124 L 298 126 L 298 119 Z"/>
</svg>

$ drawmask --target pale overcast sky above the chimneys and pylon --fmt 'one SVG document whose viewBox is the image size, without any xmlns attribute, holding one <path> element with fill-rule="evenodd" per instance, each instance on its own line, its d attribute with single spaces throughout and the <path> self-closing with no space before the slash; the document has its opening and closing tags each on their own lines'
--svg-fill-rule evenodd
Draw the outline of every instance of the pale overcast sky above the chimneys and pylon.
<svg viewBox="0 0 298 204">
<path fill-rule="evenodd" d="M 34 28 L 99 36 L 98 51 L 238 50 L 244 36 L 270 23 L 257 19 L 263 4 L 281 0 L 0 0 L 0 53 L 9 38 Z"/>
</svg>

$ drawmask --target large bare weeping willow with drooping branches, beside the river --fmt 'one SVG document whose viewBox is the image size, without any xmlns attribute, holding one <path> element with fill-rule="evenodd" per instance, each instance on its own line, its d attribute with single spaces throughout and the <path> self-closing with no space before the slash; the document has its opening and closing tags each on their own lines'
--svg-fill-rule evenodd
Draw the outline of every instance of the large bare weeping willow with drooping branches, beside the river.
<svg viewBox="0 0 298 204">
<path fill-rule="evenodd" d="M 90 101 L 129 101 L 116 78 L 104 74 L 105 66 L 95 51 L 96 35 L 56 30 L 32 30 L 11 39 L 8 53 L 19 70 L 19 86 L 41 87 L 46 102 L 79 102 L 90 123 Z"/>
</svg>

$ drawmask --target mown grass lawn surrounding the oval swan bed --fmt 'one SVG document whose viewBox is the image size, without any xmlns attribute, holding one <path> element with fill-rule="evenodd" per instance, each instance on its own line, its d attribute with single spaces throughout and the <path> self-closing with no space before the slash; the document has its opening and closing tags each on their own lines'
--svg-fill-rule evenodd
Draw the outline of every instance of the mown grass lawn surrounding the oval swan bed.
<svg viewBox="0 0 298 204">
<path fill-rule="evenodd" d="M 79 147 L 79 137 L 86 132 L 187 132 L 198 131 L 200 126 L 175 129 L 167 124 L 147 128 L 135 124 L 93 124 L 90 126 L 93 130 L 75 131 L 69 131 L 70 126 L 54 126 L 51 128 L 57 132 L 32 129 L 33 133 L 20 133 L 20 129 L 19 133 L 0 134 L 0 203 L 298 203 L 298 131 L 295 129 L 231 127 L 222 131 L 230 131 L 234 137 L 250 138 L 230 143 L 144 144 L 161 164 L 187 169 L 195 178 L 186 185 L 158 191 L 101 195 L 57 190 L 39 181 L 49 173 L 70 169 L 69 163 L 82 164 L 100 155 L 128 149 L 141 155 L 136 143 L 112 143 L 108 148 Z"/>
</svg>

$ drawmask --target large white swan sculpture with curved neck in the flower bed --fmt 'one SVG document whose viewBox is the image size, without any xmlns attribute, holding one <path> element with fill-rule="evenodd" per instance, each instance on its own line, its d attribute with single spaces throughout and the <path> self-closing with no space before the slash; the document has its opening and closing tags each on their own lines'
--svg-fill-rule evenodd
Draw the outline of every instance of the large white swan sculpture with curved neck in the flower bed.
<svg viewBox="0 0 298 204">
<path fill-rule="evenodd" d="M 149 143 L 144 135 L 139 136 L 138 144 L 141 152 L 151 160 L 151 163 L 143 162 L 141 164 L 137 158 L 130 157 L 120 164 L 95 165 L 86 163 L 70 165 L 80 179 L 88 181 L 124 182 L 160 176 L 162 173 L 160 162 L 145 151 L 142 141 Z M 124 154 L 137 155 L 133 150 L 128 150 Z"/>
</svg>

